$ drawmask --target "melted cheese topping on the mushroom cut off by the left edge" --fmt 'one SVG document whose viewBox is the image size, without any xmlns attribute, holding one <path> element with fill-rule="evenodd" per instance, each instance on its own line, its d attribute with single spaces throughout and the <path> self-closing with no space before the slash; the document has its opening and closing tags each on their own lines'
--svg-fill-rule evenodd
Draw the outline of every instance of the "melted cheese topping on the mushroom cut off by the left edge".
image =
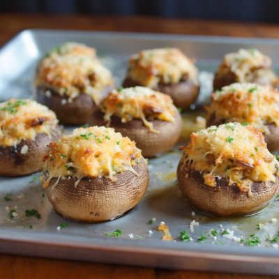
<svg viewBox="0 0 279 279">
<path fill-rule="evenodd" d="M 52 110 L 35 100 L 10 99 L 0 103 L 0 146 L 14 146 L 36 135 L 54 134 L 58 120 Z"/>
</svg>

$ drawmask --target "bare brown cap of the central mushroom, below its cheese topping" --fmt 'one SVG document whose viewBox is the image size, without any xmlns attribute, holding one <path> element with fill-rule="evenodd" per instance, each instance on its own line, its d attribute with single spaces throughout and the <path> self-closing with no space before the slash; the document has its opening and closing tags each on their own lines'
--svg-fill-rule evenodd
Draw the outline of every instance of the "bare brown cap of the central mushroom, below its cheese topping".
<svg viewBox="0 0 279 279">
<path fill-rule="evenodd" d="M 105 126 L 104 113 L 100 108 L 93 110 L 89 119 L 89 126 Z M 141 119 L 133 119 L 127 123 L 122 123 L 118 116 L 111 116 L 110 128 L 121 133 L 123 137 L 129 137 L 137 144 L 137 148 L 142 150 L 144 158 L 153 158 L 157 154 L 163 153 L 174 146 L 179 140 L 182 130 L 182 119 L 178 111 L 174 116 L 175 122 L 154 119 L 153 128 L 160 131 L 160 134 L 149 132 L 149 128 L 144 126 Z"/>
</svg>

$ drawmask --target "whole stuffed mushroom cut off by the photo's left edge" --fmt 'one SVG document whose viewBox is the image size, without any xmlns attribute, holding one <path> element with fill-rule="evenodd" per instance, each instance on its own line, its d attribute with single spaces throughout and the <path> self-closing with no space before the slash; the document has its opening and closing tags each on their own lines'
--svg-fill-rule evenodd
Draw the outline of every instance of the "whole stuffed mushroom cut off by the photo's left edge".
<svg viewBox="0 0 279 279">
<path fill-rule="evenodd" d="M 47 144 L 61 136 L 56 115 L 29 99 L 0 104 L 0 174 L 22 176 L 38 172 Z"/>
</svg>

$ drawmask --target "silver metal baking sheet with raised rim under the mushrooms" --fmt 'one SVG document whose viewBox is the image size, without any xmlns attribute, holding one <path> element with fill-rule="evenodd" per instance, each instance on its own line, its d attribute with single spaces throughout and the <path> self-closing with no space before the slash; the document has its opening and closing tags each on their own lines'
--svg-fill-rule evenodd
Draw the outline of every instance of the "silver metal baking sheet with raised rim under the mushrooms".
<svg viewBox="0 0 279 279">
<path fill-rule="evenodd" d="M 1 48 L 0 99 L 32 98 L 38 59 L 51 47 L 66 41 L 96 47 L 118 85 L 125 75 L 129 55 L 140 50 L 179 47 L 190 58 L 195 57 L 202 71 L 199 76 L 202 93 L 196 108 L 192 106 L 193 110 L 183 114 L 184 141 L 187 140 L 187 121 L 204 115 L 200 107 L 209 102 L 213 73 L 224 54 L 240 47 L 257 48 L 271 56 L 273 68 L 277 73 L 279 70 L 279 40 L 274 39 L 35 29 L 22 31 Z M 66 127 L 69 132 L 73 128 Z M 268 208 L 255 216 L 208 216 L 194 209 L 177 186 L 176 167 L 180 158 L 181 151 L 176 145 L 160 158 L 149 160 L 149 189 L 140 204 L 122 218 L 98 224 L 75 223 L 59 216 L 46 195 L 43 197 L 44 190 L 38 179 L 40 173 L 21 178 L 0 176 L 0 252 L 172 269 L 278 274 L 279 250 L 265 240 L 267 234 L 271 238 L 277 235 L 278 225 L 271 219 L 279 218 L 278 199 L 273 198 Z M 13 200 L 4 199 L 7 193 L 12 194 L 8 197 Z M 41 219 L 25 216 L 25 210 L 33 208 L 39 211 Z M 16 209 L 19 216 L 10 220 L 10 209 Z M 152 225 L 151 218 L 156 218 Z M 193 220 L 199 225 L 190 232 Z M 174 242 L 162 241 L 163 233 L 158 231 L 162 221 L 169 227 Z M 61 223 L 66 223 L 67 227 L 59 231 L 56 228 Z M 257 229 L 259 223 L 264 224 L 262 229 Z M 33 225 L 33 229 L 29 229 L 29 225 Z M 105 236 L 115 229 L 121 229 L 120 238 Z M 184 229 L 193 241 L 183 243 L 180 240 L 180 232 Z M 225 242 L 223 245 L 215 244 L 216 240 L 210 236 L 211 229 L 219 232 L 216 240 Z M 234 236 L 245 239 L 255 234 L 260 236 L 262 244 L 256 248 L 241 245 L 225 239 L 222 229 L 234 230 Z M 197 242 L 202 232 L 209 236 L 204 244 Z M 133 239 L 129 234 L 133 234 Z"/>
</svg>

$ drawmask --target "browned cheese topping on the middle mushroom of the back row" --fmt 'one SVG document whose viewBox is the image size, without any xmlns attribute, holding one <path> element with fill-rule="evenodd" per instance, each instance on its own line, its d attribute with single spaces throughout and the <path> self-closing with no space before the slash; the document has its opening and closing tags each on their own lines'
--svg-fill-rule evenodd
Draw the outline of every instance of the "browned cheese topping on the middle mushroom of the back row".
<svg viewBox="0 0 279 279">
<path fill-rule="evenodd" d="M 198 70 L 194 61 L 177 48 L 142 50 L 130 57 L 128 77 L 142 86 L 155 88 L 161 84 L 175 84 L 188 78 L 196 85 Z"/>
</svg>

